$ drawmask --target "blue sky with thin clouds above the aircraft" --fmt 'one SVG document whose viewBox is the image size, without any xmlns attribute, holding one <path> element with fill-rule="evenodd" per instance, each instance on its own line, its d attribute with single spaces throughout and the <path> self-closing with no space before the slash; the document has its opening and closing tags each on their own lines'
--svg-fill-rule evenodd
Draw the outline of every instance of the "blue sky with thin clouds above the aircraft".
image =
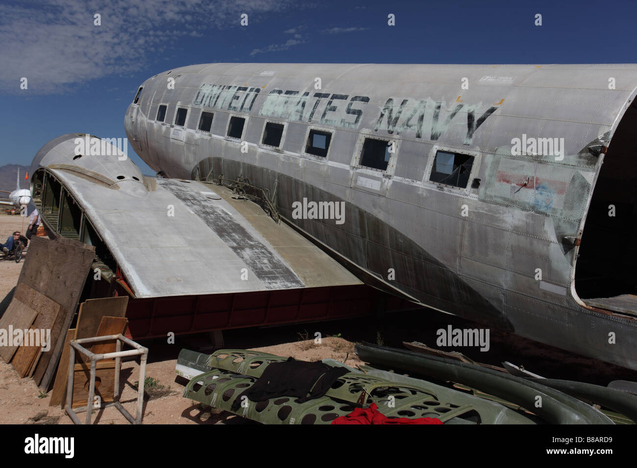
<svg viewBox="0 0 637 468">
<path fill-rule="evenodd" d="M 140 83 L 179 66 L 633 63 L 636 12 L 628 1 L 3 1 L 0 166 L 29 166 L 68 132 L 125 138 Z"/>
</svg>

